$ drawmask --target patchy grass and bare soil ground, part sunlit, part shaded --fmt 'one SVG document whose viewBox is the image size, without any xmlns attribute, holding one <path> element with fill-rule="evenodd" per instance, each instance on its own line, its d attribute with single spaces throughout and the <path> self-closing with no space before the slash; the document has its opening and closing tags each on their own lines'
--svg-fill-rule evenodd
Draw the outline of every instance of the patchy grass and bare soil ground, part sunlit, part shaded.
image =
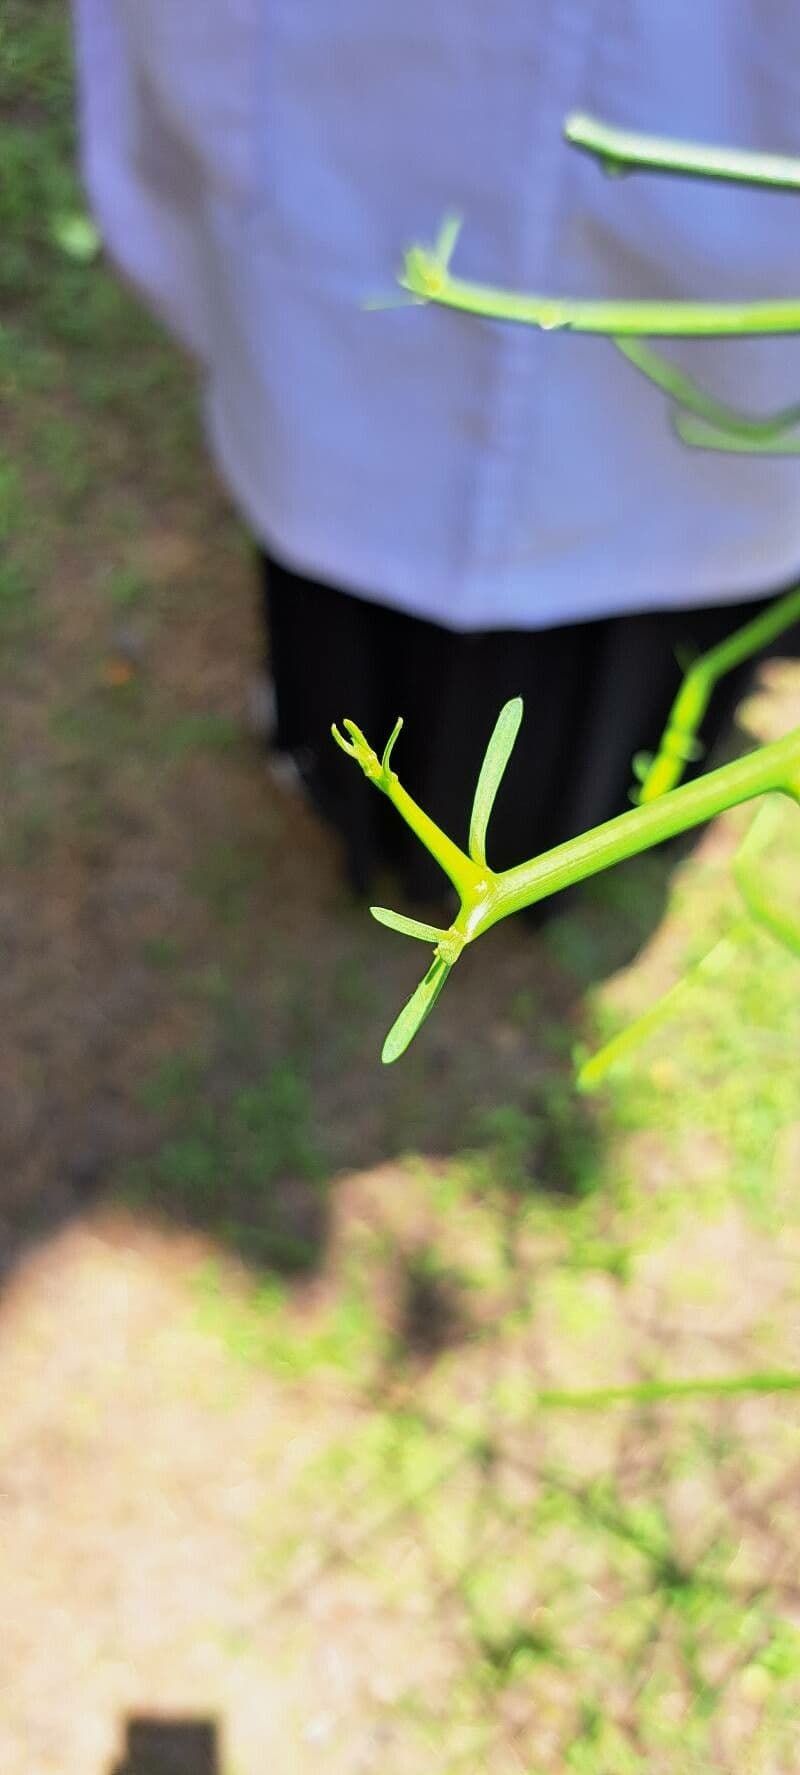
<svg viewBox="0 0 800 1775">
<path fill-rule="evenodd" d="M 64 245 L 51 0 L 0 167 L 0 1768 L 791 1775 L 800 1395 L 669 1384 L 800 1370 L 800 964 L 743 937 L 571 1086 L 740 918 L 747 815 L 381 1070 L 419 955 L 247 737 L 192 376 Z"/>
</svg>

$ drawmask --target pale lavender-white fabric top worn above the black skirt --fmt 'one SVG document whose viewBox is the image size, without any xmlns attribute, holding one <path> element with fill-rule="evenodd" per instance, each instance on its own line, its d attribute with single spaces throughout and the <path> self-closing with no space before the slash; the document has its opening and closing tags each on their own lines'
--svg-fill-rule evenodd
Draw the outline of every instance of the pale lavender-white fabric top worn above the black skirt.
<svg viewBox="0 0 800 1775">
<path fill-rule="evenodd" d="M 222 476 L 287 564 L 461 630 L 798 570 L 800 465 L 685 451 L 607 341 L 364 302 L 447 209 L 454 270 L 493 284 L 798 293 L 798 197 L 607 179 L 561 130 L 580 108 L 800 154 L 800 5 L 75 4 L 105 240 L 200 357 Z M 795 339 L 665 350 L 756 412 L 800 398 Z"/>
</svg>

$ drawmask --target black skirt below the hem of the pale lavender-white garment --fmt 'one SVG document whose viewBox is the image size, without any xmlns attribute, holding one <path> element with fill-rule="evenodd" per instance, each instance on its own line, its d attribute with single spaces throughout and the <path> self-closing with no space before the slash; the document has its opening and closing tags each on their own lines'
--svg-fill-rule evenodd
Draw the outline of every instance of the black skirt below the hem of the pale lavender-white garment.
<svg viewBox="0 0 800 1775">
<path fill-rule="evenodd" d="M 394 870 L 410 902 L 442 896 L 436 864 L 383 795 L 342 756 L 330 724 L 344 715 L 380 753 L 397 715 L 392 765 L 420 806 L 467 841 L 472 795 L 502 703 L 525 699 L 523 724 L 488 832 L 493 868 L 509 868 L 630 806 L 631 758 L 658 746 L 681 682 L 678 659 L 740 628 L 761 605 L 655 611 L 543 630 L 456 634 L 293 573 L 261 556 L 273 746 L 296 761 L 318 809 L 344 843 L 358 893 Z M 702 726 L 715 746 L 741 696 L 725 678 Z"/>
</svg>

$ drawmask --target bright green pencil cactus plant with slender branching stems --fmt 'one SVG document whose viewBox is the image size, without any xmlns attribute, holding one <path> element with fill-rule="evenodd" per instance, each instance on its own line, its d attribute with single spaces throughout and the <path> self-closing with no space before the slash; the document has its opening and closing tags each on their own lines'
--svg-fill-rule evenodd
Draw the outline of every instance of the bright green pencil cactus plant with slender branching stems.
<svg viewBox="0 0 800 1775">
<path fill-rule="evenodd" d="M 697 147 L 656 137 L 616 130 L 592 117 L 573 115 L 564 126 L 566 138 L 594 154 L 614 174 L 649 170 L 686 178 L 727 179 L 757 186 L 800 192 L 800 160 L 731 149 Z M 800 453 L 800 403 L 782 412 L 756 417 L 738 412 L 702 390 L 690 376 L 646 344 L 647 335 L 699 337 L 800 332 L 800 298 L 750 304 L 702 302 L 592 302 L 539 296 L 495 289 L 454 277 L 451 259 L 459 236 L 459 222 L 447 217 L 431 248 L 412 247 L 399 273 L 399 284 L 412 302 L 438 302 L 468 314 L 490 316 L 543 330 L 566 328 L 605 335 L 672 401 L 672 421 L 683 444 L 697 449 Z M 371 783 L 394 804 L 452 882 L 459 907 L 447 930 L 419 919 L 371 907 L 373 916 L 392 930 L 433 946 L 431 964 L 410 1001 L 403 1006 L 383 1044 L 383 1061 L 397 1060 L 433 1010 L 445 980 L 463 948 L 491 925 L 523 907 L 612 868 L 626 857 L 649 850 L 663 840 L 686 832 L 718 813 L 757 797 L 784 795 L 800 804 L 800 728 L 770 746 L 761 746 L 718 770 L 681 785 L 685 767 L 702 753 L 701 722 L 718 678 L 772 644 L 800 621 L 800 589 L 779 598 L 718 648 L 695 660 L 685 673 L 672 705 L 658 753 L 639 756 L 633 770 L 639 788 L 628 813 L 582 832 L 553 850 L 514 868 L 495 872 L 486 857 L 491 808 L 509 761 L 523 706 L 514 698 L 497 719 L 475 786 L 468 848 L 461 850 L 417 806 L 392 769 L 392 751 L 403 722 L 397 721 L 381 756 L 349 719 L 346 735 L 333 726 L 333 738 Z M 734 877 L 749 918 L 761 923 L 777 941 L 800 955 L 800 916 L 775 907 L 761 880 L 761 852 L 773 824 L 773 804 L 756 816 L 734 863 Z M 694 969 L 713 971 L 725 964 L 734 937 L 725 937 Z M 679 982 L 633 1026 L 600 1053 L 584 1060 L 578 1083 L 596 1086 L 608 1067 L 642 1040 L 686 989 Z"/>
</svg>

